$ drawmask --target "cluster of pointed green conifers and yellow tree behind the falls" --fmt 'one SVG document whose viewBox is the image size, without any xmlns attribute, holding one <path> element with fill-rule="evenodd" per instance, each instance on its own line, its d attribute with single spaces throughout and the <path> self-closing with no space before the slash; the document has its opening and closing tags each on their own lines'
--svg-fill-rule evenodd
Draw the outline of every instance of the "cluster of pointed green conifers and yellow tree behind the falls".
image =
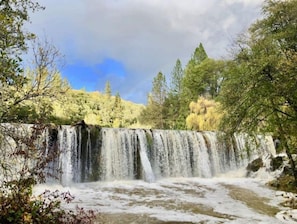
<svg viewBox="0 0 297 224">
<path fill-rule="evenodd" d="M 154 78 L 148 104 L 140 114 L 140 122 L 152 128 L 217 130 L 222 113 L 218 108 L 214 110 L 213 107 L 206 115 L 209 117 L 207 122 L 213 120 L 212 124 L 206 125 L 206 122 L 202 125 L 200 122 L 199 128 L 197 122 L 202 119 L 202 114 L 194 112 L 193 107 L 202 101 L 211 105 L 217 104 L 215 100 L 224 81 L 226 64 L 223 60 L 208 58 L 200 43 L 185 69 L 179 59 L 176 61 L 169 84 L 162 72 Z M 215 117 L 210 118 L 212 115 Z M 204 128 L 201 129 L 201 125 Z"/>
</svg>

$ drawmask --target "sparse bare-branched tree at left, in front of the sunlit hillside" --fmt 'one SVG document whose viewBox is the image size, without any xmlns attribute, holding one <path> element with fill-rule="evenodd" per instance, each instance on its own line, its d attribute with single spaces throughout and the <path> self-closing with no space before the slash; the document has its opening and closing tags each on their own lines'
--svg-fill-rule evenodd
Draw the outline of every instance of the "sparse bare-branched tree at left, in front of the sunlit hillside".
<svg viewBox="0 0 297 224">
<path fill-rule="evenodd" d="M 49 122 L 53 111 L 52 100 L 59 99 L 69 85 L 61 78 L 57 64 L 61 60 L 58 49 L 46 40 L 34 40 L 31 68 L 19 83 L 3 85 L 0 93 L 2 122 Z M 27 116 L 23 114 L 27 113 Z M 29 119 L 30 118 L 30 119 Z"/>
</svg>

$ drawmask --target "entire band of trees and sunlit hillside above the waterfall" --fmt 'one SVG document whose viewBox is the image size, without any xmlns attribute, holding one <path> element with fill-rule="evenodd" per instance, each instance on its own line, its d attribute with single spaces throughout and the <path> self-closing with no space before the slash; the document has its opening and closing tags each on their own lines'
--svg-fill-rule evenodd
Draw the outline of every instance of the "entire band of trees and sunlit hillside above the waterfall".
<svg viewBox="0 0 297 224">
<path fill-rule="evenodd" d="M 36 10 L 43 8 L 29 0 L 0 2 L 0 123 L 84 120 L 102 127 L 269 133 L 287 154 L 297 186 L 297 0 L 265 1 L 263 17 L 234 40 L 228 59 L 208 57 L 202 43 L 185 66 L 177 59 L 170 74 L 154 77 L 147 105 L 112 96 L 109 82 L 103 93 L 71 89 L 58 68 L 60 51 L 23 29 Z M 23 68 L 27 42 L 32 66 Z M 28 196 L 24 189 L 35 181 L 30 178 L 24 188 L 12 182 L 4 188 Z M 14 200 L 1 192 L 0 198 Z"/>
</svg>

